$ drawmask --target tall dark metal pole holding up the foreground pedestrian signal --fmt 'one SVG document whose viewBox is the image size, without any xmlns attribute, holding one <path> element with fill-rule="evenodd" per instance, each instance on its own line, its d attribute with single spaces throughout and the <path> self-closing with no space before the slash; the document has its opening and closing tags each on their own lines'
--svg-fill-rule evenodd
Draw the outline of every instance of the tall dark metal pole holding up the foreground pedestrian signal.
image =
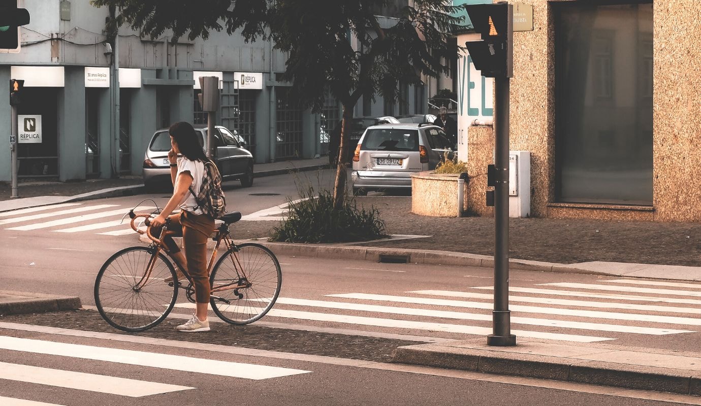
<svg viewBox="0 0 701 406">
<path fill-rule="evenodd" d="M 511 334 L 509 310 L 509 80 L 508 77 L 494 78 L 494 311 L 493 334 L 486 337 L 486 344 L 493 346 L 516 345 L 516 336 Z"/>
</svg>

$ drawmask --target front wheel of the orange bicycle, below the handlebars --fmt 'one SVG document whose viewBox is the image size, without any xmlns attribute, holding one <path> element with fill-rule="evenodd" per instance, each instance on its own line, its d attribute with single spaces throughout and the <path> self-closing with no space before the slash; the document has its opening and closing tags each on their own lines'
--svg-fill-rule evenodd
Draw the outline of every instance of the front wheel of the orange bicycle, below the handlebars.
<svg viewBox="0 0 701 406">
<path fill-rule="evenodd" d="M 112 255 L 95 279 L 95 306 L 104 321 L 119 330 L 144 331 L 161 323 L 177 300 L 175 269 L 162 253 L 154 258 L 154 248 L 132 246 Z M 154 267 L 146 281 L 149 261 Z M 139 285 L 140 282 L 140 286 Z"/>
</svg>

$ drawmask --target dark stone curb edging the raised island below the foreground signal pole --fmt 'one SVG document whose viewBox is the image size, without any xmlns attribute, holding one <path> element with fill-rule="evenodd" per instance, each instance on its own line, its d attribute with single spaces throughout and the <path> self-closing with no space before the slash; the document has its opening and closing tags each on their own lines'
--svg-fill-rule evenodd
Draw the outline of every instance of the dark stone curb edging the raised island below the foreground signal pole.
<svg viewBox="0 0 701 406">
<path fill-rule="evenodd" d="M 620 347 L 622 351 L 626 349 L 627 347 Z M 644 391 L 701 395 L 701 372 L 666 367 L 498 352 L 441 344 L 400 346 L 391 362 Z"/>
</svg>

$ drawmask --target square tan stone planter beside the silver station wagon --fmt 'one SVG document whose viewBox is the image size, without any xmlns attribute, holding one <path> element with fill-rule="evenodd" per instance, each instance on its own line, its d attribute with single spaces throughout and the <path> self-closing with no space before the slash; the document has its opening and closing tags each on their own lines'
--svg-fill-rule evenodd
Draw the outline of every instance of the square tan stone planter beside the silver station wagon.
<svg viewBox="0 0 701 406">
<path fill-rule="evenodd" d="M 459 174 L 418 172 L 411 175 L 411 212 L 422 216 L 458 216 Z M 468 184 L 463 194 L 463 213 L 468 209 Z"/>
</svg>

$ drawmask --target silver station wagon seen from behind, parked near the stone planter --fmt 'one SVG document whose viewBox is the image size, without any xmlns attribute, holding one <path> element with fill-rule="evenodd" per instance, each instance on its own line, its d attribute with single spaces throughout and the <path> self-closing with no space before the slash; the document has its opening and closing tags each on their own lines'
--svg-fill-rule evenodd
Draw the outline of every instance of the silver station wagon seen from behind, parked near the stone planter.
<svg viewBox="0 0 701 406">
<path fill-rule="evenodd" d="M 435 169 L 454 146 L 442 128 L 428 124 L 373 125 L 362 134 L 353 155 L 353 194 L 411 188 L 411 173 Z"/>
</svg>

